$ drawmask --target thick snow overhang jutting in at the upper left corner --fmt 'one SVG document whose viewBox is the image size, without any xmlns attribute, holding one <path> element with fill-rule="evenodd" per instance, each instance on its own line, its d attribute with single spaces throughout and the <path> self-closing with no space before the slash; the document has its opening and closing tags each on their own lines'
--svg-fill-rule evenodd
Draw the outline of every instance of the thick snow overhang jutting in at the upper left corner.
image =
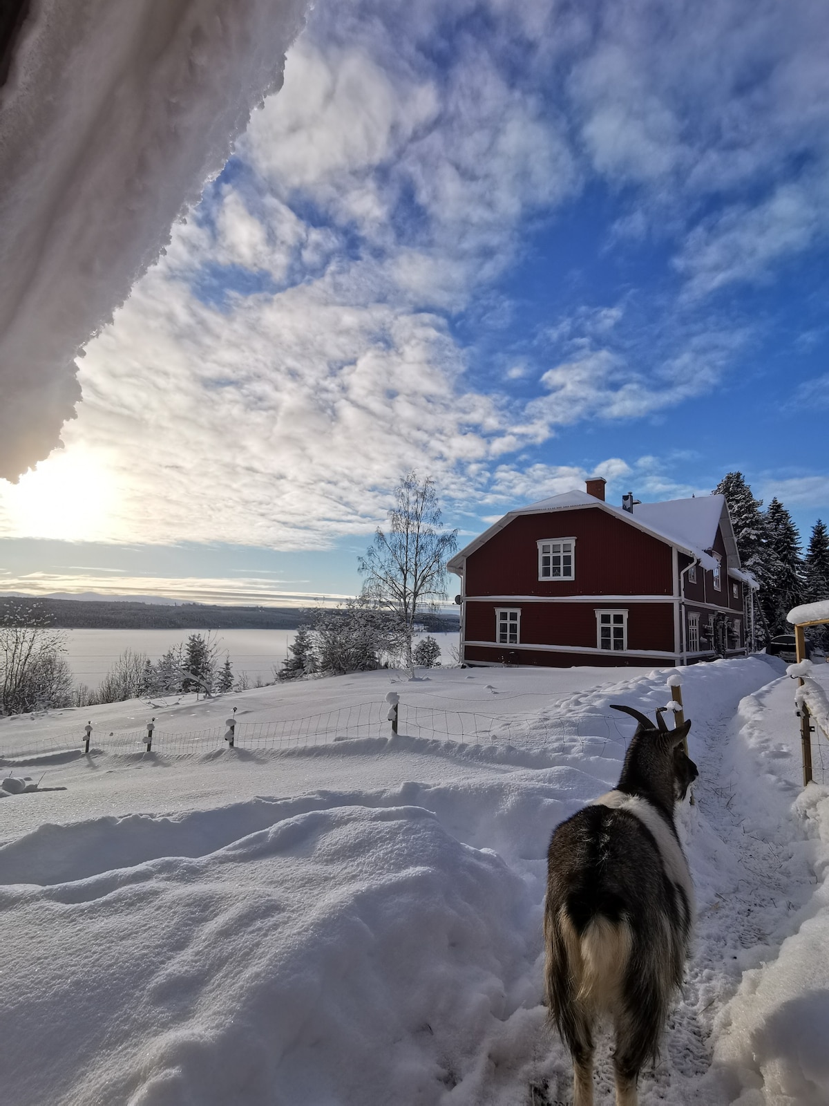
<svg viewBox="0 0 829 1106">
<path fill-rule="evenodd" d="M 0 90 L 0 477 L 57 444 L 81 346 L 280 86 L 306 0 L 39 0 Z"/>
</svg>

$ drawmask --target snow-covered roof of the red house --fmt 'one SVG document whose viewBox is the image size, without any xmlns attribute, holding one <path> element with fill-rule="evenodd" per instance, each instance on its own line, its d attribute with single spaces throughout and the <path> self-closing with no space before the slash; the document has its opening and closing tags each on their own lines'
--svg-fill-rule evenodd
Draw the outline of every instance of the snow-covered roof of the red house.
<svg viewBox="0 0 829 1106">
<path fill-rule="evenodd" d="M 700 562 L 703 568 L 713 570 L 716 560 L 706 553 L 716 539 L 717 526 L 723 525 L 723 536 L 725 539 L 728 573 L 737 580 L 753 586 L 754 577 L 739 571 L 739 556 L 737 554 L 734 534 L 728 521 L 728 511 L 725 505 L 724 495 L 701 495 L 696 499 L 674 499 L 663 503 L 637 503 L 633 513 L 623 511 L 620 507 L 613 507 L 605 500 L 597 499 L 586 491 L 574 489 L 562 492 L 559 495 L 552 495 L 548 499 L 538 500 L 528 507 L 518 508 L 507 512 L 503 519 L 479 534 L 464 549 L 457 553 L 448 563 L 450 572 L 459 573 L 463 570 L 463 561 L 485 542 L 493 538 L 500 530 L 521 514 L 544 514 L 552 511 L 571 511 L 581 508 L 596 508 L 608 511 L 630 525 L 642 530 L 646 533 L 675 545 L 681 552 L 693 556 Z M 738 575 L 737 575 L 738 573 Z"/>
</svg>

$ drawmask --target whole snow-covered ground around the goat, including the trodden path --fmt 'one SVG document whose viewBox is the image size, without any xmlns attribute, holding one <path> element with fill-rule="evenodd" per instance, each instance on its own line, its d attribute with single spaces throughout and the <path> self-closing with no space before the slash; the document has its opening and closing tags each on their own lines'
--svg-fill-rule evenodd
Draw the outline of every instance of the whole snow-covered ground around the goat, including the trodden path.
<svg viewBox="0 0 829 1106">
<path fill-rule="evenodd" d="M 754 657 L 682 672 L 697 939 L 644 1104 L 829 1102 L 829 790 L 800 794 L 784 670 Z M 568 1102 L 541 1005 L 547 842 L 617 780 L 633 722 L 609 705 L 652 711 L 672 671 L 381 671 L 153 708 L 190 731 L 231 702 L 267 722 L 393 690 L 522 719 L 521 744 L 401 727 L 282 752 L 7 758 L 3 775 L 65 790 L 0 802 L 2 1099 Z M 0 720 L 0 755 L 147 713 Z M 606 1047 L 597 1088 L 612 1100 Z"/>
</svg>

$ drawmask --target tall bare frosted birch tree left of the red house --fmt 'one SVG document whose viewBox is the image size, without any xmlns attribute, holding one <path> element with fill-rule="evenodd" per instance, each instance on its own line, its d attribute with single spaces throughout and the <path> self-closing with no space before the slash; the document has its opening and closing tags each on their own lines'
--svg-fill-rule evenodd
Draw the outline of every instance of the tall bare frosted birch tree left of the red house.
<svg viewBox="0 0 829 1106">
<path fill-rule="evenodd" d="M 458 547 L 458 531 L 443 530 L 431 477 L 407 472 L 396 489 L 387 530 L 378 526 L 358 568 L 366 598 L 400 618 L 406 667 L 412 668 L 412 637 L 418 615 L 445 598 L 447 560 Z"/>
</svg>

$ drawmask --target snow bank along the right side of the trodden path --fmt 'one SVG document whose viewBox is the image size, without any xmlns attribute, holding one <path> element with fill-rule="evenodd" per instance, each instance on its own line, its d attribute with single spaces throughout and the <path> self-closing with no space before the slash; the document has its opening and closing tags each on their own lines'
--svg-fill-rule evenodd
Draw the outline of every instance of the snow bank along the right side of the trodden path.
<svg viewBox="0 0 829 1106">
<path fill-rule="evenodd" d="M 745 972 L 716 1025 L 713 1074 L 739 1106 L 829 1102 L 829 789 L 801 791 L 795 698 L 795 681 L 783 678 L 741 703 L 731 765 L 744 791 L 744 832 L 777 849 L 784 875 L 800 865 L 811 880 L 798 896 L 786 879 L 788 911 L 777 925 L 767 919 L 768 943 L 753 957 L 758 966 Z M 826 751 L 825 738 L 814 742 Z"/>
</svg>

